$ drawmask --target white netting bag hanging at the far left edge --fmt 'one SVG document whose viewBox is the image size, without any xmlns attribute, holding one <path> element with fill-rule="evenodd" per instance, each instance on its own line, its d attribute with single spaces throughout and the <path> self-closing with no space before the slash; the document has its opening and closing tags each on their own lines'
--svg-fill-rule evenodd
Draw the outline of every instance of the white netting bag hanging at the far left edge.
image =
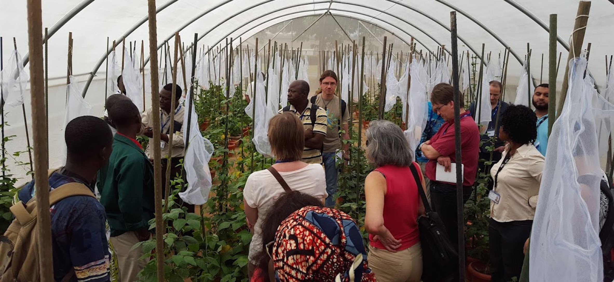
<svg viewBox="0 0 614 282">
<path fill-rule="evenodd" d="M 0 73 L 0 86 L 2 87 L 2 99 L 11 107 L 23 104 L 23 91 L 28 86 L 28 74 L 23 70 L 21 55 L 13 50 L 9 64 Z"/>
</svg>

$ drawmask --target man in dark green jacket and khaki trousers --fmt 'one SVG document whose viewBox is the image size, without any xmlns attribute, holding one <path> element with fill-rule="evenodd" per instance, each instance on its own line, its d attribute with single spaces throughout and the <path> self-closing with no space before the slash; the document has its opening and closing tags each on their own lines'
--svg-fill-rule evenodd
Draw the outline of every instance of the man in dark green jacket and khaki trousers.
<svg viewBox="0 0 614 282">
<path fill-rule="evenodd" d="M 117 134 L 109 162 L 98 173 L 111 243 L 117 254 L 120 281 L 136 281 L 147 262 L 139 260 L 142 248 L 131 248 L 149 240 L 149 220 L 154 212 L 153 167 L 136 141 L 141 115 L 131 101 L 119 101 L 109 109 Z"/>
</svg>

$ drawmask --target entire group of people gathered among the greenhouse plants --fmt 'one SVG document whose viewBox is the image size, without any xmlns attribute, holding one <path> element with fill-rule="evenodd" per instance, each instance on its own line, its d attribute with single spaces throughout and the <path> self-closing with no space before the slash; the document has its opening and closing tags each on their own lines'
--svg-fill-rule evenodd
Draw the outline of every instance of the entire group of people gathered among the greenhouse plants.
<svg viewBox="0 0 614 282">
<path fill-rule="evenodd" d="M 307 82 L 290 83 L 290 105 L 269 121 L 275 163 L 249 175 L 244 187 L 247 226 L 254 234 L 249 247 L 251 281 L 421 281 L 416 221 L 425 215 L 425 204 L 437 211 L 457 247 L 456 183 L 438 175 L 451 171 L 457 161 L 453 86 L 440 83 L 430 93 L 427 124 L 417 148 L 410 148 L 394 123 L 371 121 L 365 155 L 375 170 L 365 179 L 366 215 L 364 226 L 359 226 L 334 209 L 337 162 L 348 159 L 347 105 L 335 95 L 335 72 L 325 71 L 319 82 L 320 90 L 311 99 Z M 483 134 L 474 121 L 475 105 L 465 110 L 460 100 L 463 177 L 458 181 L 466 201 L 476 186 L 478 169 L 491 174 L 492 281 L 511 281 L 523 269 L 523 247 L 537 206 L 548 143 L 548 85 L 535 88 L 535 112 L 500 101 L 502 85 L 490 85 L 492 122 Z M 172 84 L 160 90 L 161 142 L 149 142 L 146 150 L 136 139 L 153 136 L 152 109 L 139 113 L 122 92 L 109 96 L 103 119 L 82 116 L 66 126 L 68 158 L 66 166 L 50 172 L 50 191 L 78 183 L 92 193 L 97 190 L 99 200 L 73 196 L 52 203 L 55 280 L 109 280 L 106 223 L 120 280 L 138 280 L 145 261 L 139 259 L 142 248 L 134 246 L 149 240 L 149 221 L 154 218 L 152 146 L 161 148 L 163 171 L 171 166 L 172 175 L 181 175 L 177 164 L 184 156 L 184 109 L 179 103 L 181 88 L 176 86 L 174 92 L 173 96 Z M 495 137 L 494 145 L 489 137 Z M 492 166 L 478 161 L 487 153 L 491 158 L 486 147 L 494 147 Z M 421 192 L 428 203 L 422 202 Z M 34 182 L 18 197 L 22 202 L 32 199 Z M 368 246 L 361 230 L 369 234 Z M 459 278 L 451 273 L 451 280 Z"/>
</svg>

